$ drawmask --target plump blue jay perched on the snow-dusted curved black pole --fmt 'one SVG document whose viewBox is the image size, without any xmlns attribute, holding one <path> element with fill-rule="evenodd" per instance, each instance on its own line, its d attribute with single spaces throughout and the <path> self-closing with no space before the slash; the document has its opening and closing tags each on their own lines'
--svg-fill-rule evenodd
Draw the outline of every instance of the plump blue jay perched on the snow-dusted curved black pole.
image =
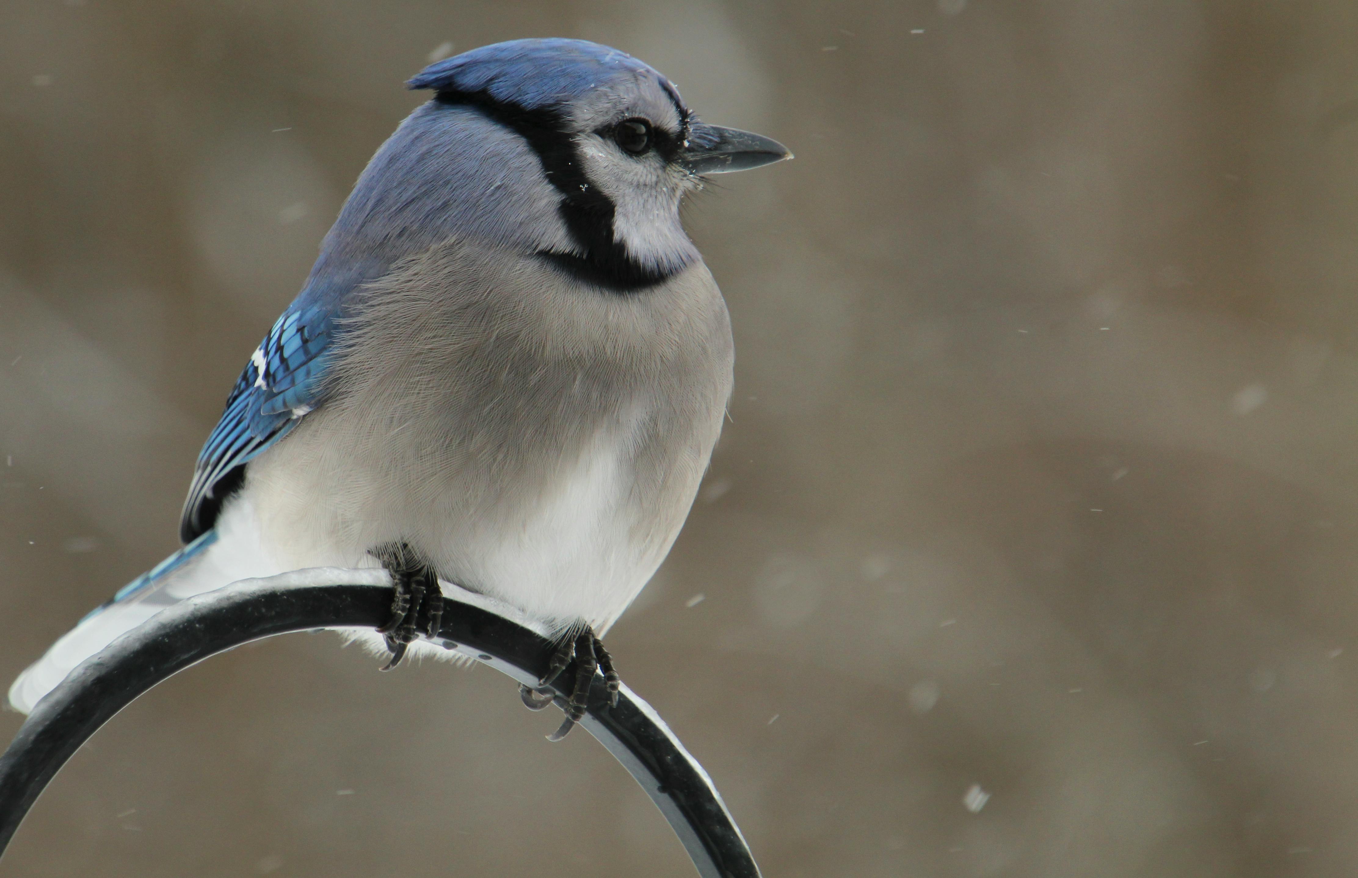
<svg viewBox="0 0 1358 878">
<path fill-rule="evenodd" d="M 483 46 L 409 85 L 433 98 L 359 178 L 198 456 L 185 547 L 24 670 L 15 708 L 189 596 L 379 563 L 392 623 L 356 636 L 388 668 L 444 653 L 414 642 L 441 578 L 555 631 L 551 676 L 580 660 L 555 737 L 596 664 L 617 689 L 598 636 L 678 536 L 732 385 L 727 307 L 679 204 L 705 174 L 790 153 L 576 39 Z"/>
</svg>

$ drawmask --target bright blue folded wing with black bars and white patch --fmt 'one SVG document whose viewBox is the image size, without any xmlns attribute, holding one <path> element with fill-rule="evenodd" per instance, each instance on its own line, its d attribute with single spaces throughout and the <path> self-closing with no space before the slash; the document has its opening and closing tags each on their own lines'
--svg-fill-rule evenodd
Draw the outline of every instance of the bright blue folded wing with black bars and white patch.
<svg viewBox="0 0 1358 878">
<path fill-rule="evenodd" d="M 227 410 L 198 453 L 179 536 L 189 543 L 212 528 L 225 497 L 239 486 L 239 468 L 287 436 L 325 400 L 334 313 L 293 303 L 250 357 L 227 399 Z"/>
</svg>

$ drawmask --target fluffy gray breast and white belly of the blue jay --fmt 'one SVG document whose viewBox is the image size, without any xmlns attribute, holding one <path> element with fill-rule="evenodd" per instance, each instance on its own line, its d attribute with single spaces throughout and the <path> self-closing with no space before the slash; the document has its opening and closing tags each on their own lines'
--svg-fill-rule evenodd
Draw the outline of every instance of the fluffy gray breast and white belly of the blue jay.
<svg viewBox="0 0 1358 878">
<path fill-rule="evenodd" d="M 449 243 L 361 308 L 329 402 L 247 472 L 280 562 L 405 540 L 464 588 L 607 628 L 669 551 L 721 429 L 731 328 L 706 267 L 619 296 Z"/>
</svg>

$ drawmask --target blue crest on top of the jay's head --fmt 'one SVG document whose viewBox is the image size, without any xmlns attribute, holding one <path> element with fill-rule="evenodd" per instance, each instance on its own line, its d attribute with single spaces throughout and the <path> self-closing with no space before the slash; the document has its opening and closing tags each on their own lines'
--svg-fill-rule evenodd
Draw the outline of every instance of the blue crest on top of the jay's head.
<svg viewBox="0 0 1358 878">
<path fill-rule="evenodd" d="M 626 52 L 585 39 L 511 39 L 430 64 L 410 88 L 486 92 L 496 100 L 539 110 L 573 100 L 618 76 L 650 76 L 676 99 L 655 68 Z"/>
</svg>

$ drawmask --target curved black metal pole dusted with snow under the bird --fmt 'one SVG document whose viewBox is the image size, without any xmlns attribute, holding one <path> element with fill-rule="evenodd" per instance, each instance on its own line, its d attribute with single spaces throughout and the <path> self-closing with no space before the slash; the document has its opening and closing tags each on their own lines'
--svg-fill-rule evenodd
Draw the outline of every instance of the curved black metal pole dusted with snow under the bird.
<svg viewBox="0 0 1358 878">
<path fill-rule="evenodd" d="M 454 593 L 435 642 L 536 685 L 553 651 L 543 631 L 481 596 L 447 584 L 444 589 Z M 382 570 L 303 570 L 200 594 L 122 635 L 38 702 L 0 756 L 0 854 L 72 753 L 151 687 L 250 641 L 315 628 L 376 628 L 391 616 L 391 597 Z M 572 665 L 561 680 L 573 679 Z M 559 689 L 555 702 L 566 703 Z M 759 877 L 708 772 L 649 704 L 623 685 L 618 706 L 610 707 L 596 674 L 580 725 L 650 795 L 699 875 Z"/>
</svg>

